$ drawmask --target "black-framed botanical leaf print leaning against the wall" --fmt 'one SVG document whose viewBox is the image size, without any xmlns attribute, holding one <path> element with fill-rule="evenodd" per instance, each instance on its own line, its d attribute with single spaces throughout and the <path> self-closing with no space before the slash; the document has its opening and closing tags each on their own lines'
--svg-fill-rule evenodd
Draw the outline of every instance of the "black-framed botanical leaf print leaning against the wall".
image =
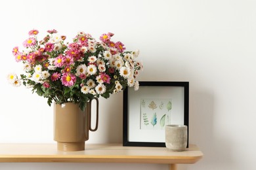
<svg viewBox="0 0 256 170">
<path fill-rule="evenodd" d="M 139 90 L 123 90 L 123 146 L 165 147 L 166 124 L 188 127 L 188 102 L 189 82 L 140 81 Z"/>
</svg>

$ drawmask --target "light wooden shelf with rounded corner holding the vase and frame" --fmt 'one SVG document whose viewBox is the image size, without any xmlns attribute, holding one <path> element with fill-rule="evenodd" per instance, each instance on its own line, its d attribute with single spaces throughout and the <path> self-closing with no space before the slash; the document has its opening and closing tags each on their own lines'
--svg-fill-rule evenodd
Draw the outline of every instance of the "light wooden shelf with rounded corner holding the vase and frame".
<svg viewBox="0 0 256 170">
<path fill-rule="evenodd" d="M 182 152 L 165 147 L 86 144 L 85 150 L 62 152 L 56 144 L 0 144 L 0 162 L 88 162 L 88 163 L 196 163 L 203 153 L 195 144 Z"/>
</svg>

